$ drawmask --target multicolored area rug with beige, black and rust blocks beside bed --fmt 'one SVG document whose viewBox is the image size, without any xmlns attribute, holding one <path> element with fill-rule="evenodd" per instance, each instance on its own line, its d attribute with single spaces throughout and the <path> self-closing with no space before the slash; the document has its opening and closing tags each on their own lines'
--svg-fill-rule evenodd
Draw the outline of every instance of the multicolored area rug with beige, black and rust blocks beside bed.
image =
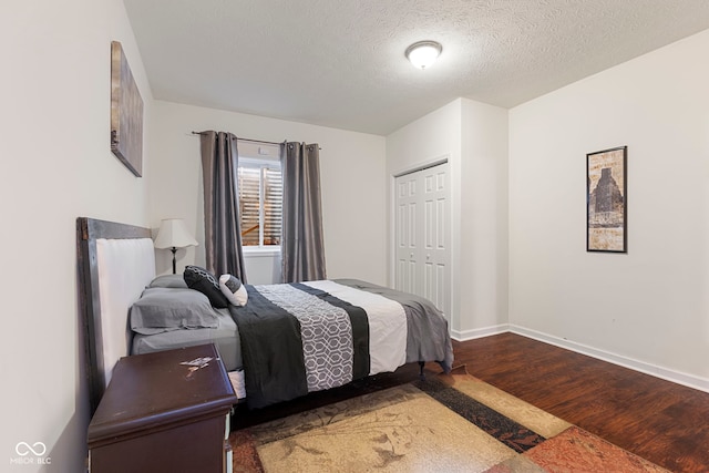
<svg viewBox="0 0 709 473">
<path fill-rule="evenodd" d="M 232 432 L 234 472 L 666 472 L 465 372 Z"/>
</svg>

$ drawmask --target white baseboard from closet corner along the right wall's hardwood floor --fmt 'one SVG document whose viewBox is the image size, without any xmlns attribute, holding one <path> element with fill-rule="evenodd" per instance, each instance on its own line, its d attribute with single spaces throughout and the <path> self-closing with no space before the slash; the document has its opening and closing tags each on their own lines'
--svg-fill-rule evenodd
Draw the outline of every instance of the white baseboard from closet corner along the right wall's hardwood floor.
<svg viewBox="0 0 709 473">
<path fill-rule="evenodd" d="M 527 337 L 534 340 L 549 343 L 555 347 L 564 348 L 566 350 L 574 351 L 576 353 L 585 354 L 587 357 L 596 358 L 602 361 L 607 361 L 613 364 L 617 364 L 624 368 L 628 368 L 635 371 L 639 371 L 645 374 L 660 378 L 666 381 L 670 381 L 677 384 L 686 385 L 688 388 L 698 389 L 703 392 L 709 392 L 709 379 L 684 373 L 681 371 L 675 371 L 667 368 L 658 367 L 656 364 L 646 363 L 644 361 L 634 360 L 631 358 L 623 357 L 620 354 L 612 353 L 609 351 L 599 350 L 587 345 L 577 343 L 575 341 L 565 340 L 548 333 L 540 332 L 536 330 L 527 329 L 524 327 L 515 326 L 514 323 L 502 323 L 499 326 L 486 327 L 482 329 L 452 331 L 451 338 L 458 341 L 473 340 L 476 338 L 489 337 L 492 335 L 513 332 Z"/>
</svg>

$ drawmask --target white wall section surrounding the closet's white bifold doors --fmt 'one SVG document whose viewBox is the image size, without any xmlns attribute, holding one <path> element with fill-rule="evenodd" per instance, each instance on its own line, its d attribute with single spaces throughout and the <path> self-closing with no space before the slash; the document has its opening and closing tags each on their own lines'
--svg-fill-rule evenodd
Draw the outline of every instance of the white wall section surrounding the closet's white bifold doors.
<svg viewBox="0 0 709 473">
<path fill-rule="evenodd" d="M 452 335 L 470 338 L 507 321 L 507 111 L 458 99 L 387 136 L 393 176 L 449 160 Z M 390 224 L 393 281 L 393 225 Z M 484 332 L 481 332 L 483 330 Z"/>
</svg>

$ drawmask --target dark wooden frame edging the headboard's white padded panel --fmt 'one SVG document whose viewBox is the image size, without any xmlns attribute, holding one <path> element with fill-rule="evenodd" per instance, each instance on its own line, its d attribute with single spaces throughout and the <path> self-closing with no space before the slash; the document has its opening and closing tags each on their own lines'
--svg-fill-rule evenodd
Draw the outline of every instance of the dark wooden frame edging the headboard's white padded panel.
<svg viewBox="0 0 709 473">
<path fill-rule="evenodd" d="M 109 240 L 151 238 L 151 230 L 94 218 L 79 217 L 76 219 L 79 311 L 84 326 L 86 373 L 92 414 L 96 410 L 107 383 L 107 373 L 104 369 L 106 360 L 104 359 L 104 331 L 102 327 L 104 320 L 101 311 L 101 275 L 96 256 L 96 240 L 100 238 Z M 150 264 L 150 261 L 147 263 Z M 152 265 L 154 273 L 154 260 Z M 125 312 L 126 328 L 127 310 Z"/>
</svg>

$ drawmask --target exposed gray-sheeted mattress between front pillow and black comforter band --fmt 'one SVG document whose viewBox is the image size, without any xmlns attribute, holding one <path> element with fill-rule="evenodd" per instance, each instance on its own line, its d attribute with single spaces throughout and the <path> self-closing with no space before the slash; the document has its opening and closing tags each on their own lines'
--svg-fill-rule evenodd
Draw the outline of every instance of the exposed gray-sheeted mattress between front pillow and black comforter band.
<svg viewBox="0 0 709 473">
<path fill-rule="evenodd" d="M 227 371 L 243 369 L 238 328 L 228 309 L 215 310 L 219 313 L 215 329 L 172 330 L 156 335 L 134 333 L 131 354 L 214 343 Z"/>
</svg>

